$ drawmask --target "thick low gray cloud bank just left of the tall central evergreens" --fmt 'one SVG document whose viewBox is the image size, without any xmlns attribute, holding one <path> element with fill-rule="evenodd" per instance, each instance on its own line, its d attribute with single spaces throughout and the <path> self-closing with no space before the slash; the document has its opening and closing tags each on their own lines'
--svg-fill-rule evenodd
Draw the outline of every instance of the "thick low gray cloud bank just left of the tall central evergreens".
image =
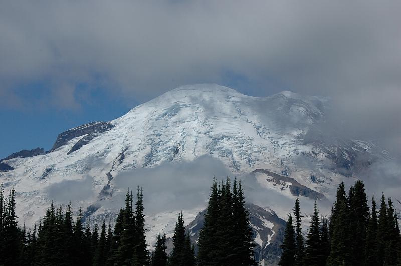
<svg viewBox="0 0 401 266">
<path fill-rule="evenodd" d="M 202 156 L 191 162 L 171 162 L 123 172 L 113 179 L 113 184 L 124 193 L 127 188 L 136 191 L 138 186 L 142 187 L 146 211 L 157 213 L 204 208 L 214 175 L 223 179 L 230 171 L 219 160 Z"/>
</svg>

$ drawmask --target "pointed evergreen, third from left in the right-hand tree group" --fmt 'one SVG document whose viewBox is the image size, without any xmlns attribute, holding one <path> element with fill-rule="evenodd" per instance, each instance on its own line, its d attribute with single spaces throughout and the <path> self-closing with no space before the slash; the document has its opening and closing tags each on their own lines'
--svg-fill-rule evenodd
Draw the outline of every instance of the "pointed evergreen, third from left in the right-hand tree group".
<svg viewBox="0 0 401 266">
<path fill-rule="evenodd" d="M 310 266 L 324 265 L 321 252 L 319 212 L 315 201 L 310 228 L 306 236 L 305 264 Z"/>
</svg>

